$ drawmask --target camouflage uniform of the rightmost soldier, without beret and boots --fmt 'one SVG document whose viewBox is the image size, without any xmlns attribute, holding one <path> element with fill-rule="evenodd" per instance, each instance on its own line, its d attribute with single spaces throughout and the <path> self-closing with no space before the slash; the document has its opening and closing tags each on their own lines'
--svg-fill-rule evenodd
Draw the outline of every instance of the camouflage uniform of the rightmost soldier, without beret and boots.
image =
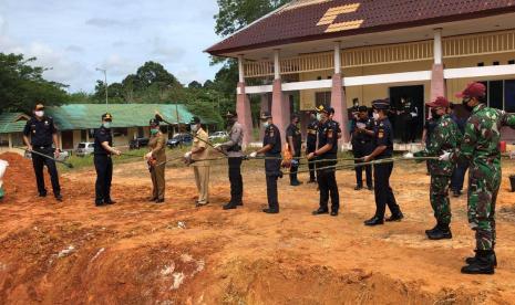
<svg viewBox="0 0 515 305">
<path fill-rule="evenodd" d="M 470 162 L 468 223 L 475 230 L 476 250 L 491 251 L 495 246 L 495 201 L 501 186 L 501 128 L 515 128 L 515 115 L 474 107 L 465 126 L 461 150 L 452 156 Z"/>
</svg>

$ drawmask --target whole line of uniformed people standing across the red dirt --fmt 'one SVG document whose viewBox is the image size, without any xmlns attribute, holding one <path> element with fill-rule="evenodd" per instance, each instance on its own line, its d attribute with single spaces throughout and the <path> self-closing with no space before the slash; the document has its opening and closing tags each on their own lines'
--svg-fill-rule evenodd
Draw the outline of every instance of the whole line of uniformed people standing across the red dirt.
<svg viewBox="0 0 515 305">
<path fill-rule="evenodd" d="M 515 128 L 515 116 L 503 111 L 488 108 L 484 105 L 485 95 L 485 86 L 481 83 L 472 83 L 457 94 L 463 99 L 463 106 L 471 112 L 471 117 L 462 126 L 460 126 L 460 122 L 456 123 L 456 118 L 453 118 L 452 106 L 446 98 L 439 97 L 426 103 L 426 106 L 431 108 L 431 124 L 433 125 L 431 127 L 426 125 L 425 148 L 414 155 L 411 152 L 404 155 L 404 158 L 408 159 L 414 156 L 437 157 L 437 159 L 429 161 L 430 201 L 436 219 L 436 225 L 425 231 L 431 240 L 452 239 L 449 188 L 452 177 L 464 175 L 466 167 L 470 167 L 467 210 L 468 222 L 476 236 L 476 255 L 467 257 L 466 265 L 462 269 L 463 273 L 468 274 L 493 274 L 497 265 L 494 248 L 496 240 L 495 202 L 501 185 L 499 130 L 503 126 Z M 27 123 L 24 129 L 24 140 L 29 151 L 38 151 L 48 156 L 48 158 L 41 157 L 39 154 L 32 156 L 39 196 L 47 196 L 42 172 L 45 165 L 51 175 L 53 193 L 56 200 L 62 201 L 55 162 L 52 160 L 52 157 L 60 154 L 59 149 L 53 148 L 59 147 L 56 128 L 52 118 L 44 116 L 43 109 L 44 106 L 41 104 L 35 106 L 33 117 Z M 389 159 L 393 156 L 393 129 L 389 120 L 390 101 L 388 98 L 373 101 L 372 111 L 373 116 L 369 117 L 369 109 L 365 106 L 359 107 L 351 128 L 351 141 L 358 162 L 356 189 L 363 188 L 362 169 L 364 167 L 367 188 L 373 190 L 375 197 L 375 213 L 371 219 L 364 221 L 364 224 L 370 227 L 383 224 L 384 221 L 401 221 L 404 218 L 390 186 L 394 162 L 375 162 L 373 165 L 373 181 L 372 168 L 368 165 L 359 166 L 361 162 L 368 164 L 373 160 Z M 319 207 L 312 212 L 315 215 L 330 213 L 332 217 L 337 217 L 340 210 L 336 165 L 341 128 L 339 123 L 332 119 L 333 114 L 333 108 L 318 106 L 311 114 L 311 122 L 307 130 L 306 159 L 310 169 L 308 183 L 317 182 L 319 189 Z M 208 141 L 200 119 L 198 117 L 192 119 L 194 143 L 190 151 L 184 155 L 184 160 L 194 167 L 199 193 L 196 201 L 197 207 L 209 203 L 208 148 L 213 147 L 224 154 L 228 162 L 230 200 L 223 206 L 223 209 L 231 210 L 244 204 L 241 164 L 245 159 L 264 156 L 268 208 L 262 211 L 279 213 L 277 180 L 282 177 L 281 135 L 278 127 L 274 125 L 274 118 L 269 113 L 262 113 L 260 119 L 265 128 L 262 147 L 249 155 L 245 155 L 243 151 L 244 127 L 238 123 L 236 113 L 229 112 L 227 114 L 228 140 L 217 145 L 212 145 Z M 102 126 L 95 130 L 94 165 L 97 173 L 95 204 L 97 207 L 115 203 L 111 198 L 112 156 L 119 156 L 122 152 L 113 148 L 112 120 L 111 114 L 102 115 Z M 286 143 L 289 144 L 288 149 L 293 156 L 290 170 L 291 186 L 301 183 L 297 178 L 298 161 L 302 149 L 298 124 L 299 117 L 293 115 L 285 138 Z M 159 130 L 159 119 L 151 119 L 150 126 L 150 151 L 145 156 L 153 182 L 150 200 L 162 203 L 165 196 L 165 136 Z M 457 170 L 460 166 L 462 166 L 462 171 Z M 457 188 L 454 189 L 455 193 L 456 190 Z M 330 209 L 329 200 L 331 201 Z M 391 214 L 385 219 L 387 206 Z"/>
</svg>

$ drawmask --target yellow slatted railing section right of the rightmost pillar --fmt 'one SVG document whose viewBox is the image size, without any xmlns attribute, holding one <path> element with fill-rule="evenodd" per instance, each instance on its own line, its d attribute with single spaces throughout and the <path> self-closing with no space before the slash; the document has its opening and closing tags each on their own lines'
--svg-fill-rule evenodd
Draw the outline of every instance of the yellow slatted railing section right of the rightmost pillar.
<svg viewBox="0 0 515 305">
<path fill-rule="evenodd" d="M 443 57 L 497 54 L 515 51 L 515 30 L 444 38 Z"/>
</svg>

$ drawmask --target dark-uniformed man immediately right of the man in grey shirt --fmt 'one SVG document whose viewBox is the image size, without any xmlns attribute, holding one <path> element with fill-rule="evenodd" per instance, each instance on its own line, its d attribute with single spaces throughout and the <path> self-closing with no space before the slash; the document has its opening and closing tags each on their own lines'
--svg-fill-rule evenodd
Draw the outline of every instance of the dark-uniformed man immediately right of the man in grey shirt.
<svg viewBox="0 0 515 305">
<path fill-rule="evenodd" d="M 249 155 L 250 158 L 256 158 L 257 155 L 265 154 L 268 159 L 265 160 L 265 171 L 267 175 L 267 197 L 268 209 L 264 209 L 265 213 L 279 213 L 279 200 L 277 194 L 277 178 L 282 178 L 280 171 L 281 165 L 281 140 L 279 128 L 274 125 L 274 120 L 269 113 L 261 114 L 261 122 L 265 126 L 265 137 L 262 139 L 262 148 Z"/>
</svg>

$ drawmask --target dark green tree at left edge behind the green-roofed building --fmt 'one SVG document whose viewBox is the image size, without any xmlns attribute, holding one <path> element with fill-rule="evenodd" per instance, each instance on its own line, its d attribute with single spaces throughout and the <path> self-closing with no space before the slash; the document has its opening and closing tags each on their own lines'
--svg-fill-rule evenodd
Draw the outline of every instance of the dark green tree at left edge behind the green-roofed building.
<svg viewBox="0 0 515 305">
<path fill-rule="evenodd" d="M 30 113 L 37 103 L 60 105 L 66 101 L 66 86 L 44 80 L 45 69 L 32 66 L 34 61 L 22 54 L 0 53 L 0 112 Z"/>
</svg>

